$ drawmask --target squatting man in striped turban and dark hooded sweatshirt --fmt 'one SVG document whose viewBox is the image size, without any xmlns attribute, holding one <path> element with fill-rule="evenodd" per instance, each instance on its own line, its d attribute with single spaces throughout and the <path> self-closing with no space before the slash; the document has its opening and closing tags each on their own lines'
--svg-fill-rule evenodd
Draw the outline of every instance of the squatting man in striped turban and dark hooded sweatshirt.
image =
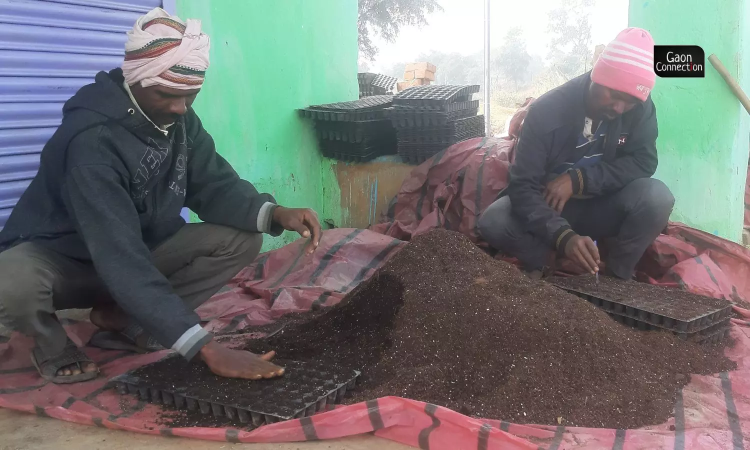
<svg viewBox="0 0 750 450">
<path fill-rule="evenodd" d="M 217 154 L 190 105 L 208 69 L 199 20 L 156 8 L 127 33 L 122 68 L 100 72 L 63 108 L 40 168 L 0 231 L 0 320 L 34 338 L 31 361 L 54 383 L 98 368 L 55 311 L 93 308 L 97 347 L 171 348 L 215 374 L 283 369 L 217 344 L 193 311 L 257 257 L 262 233 L 320 241 L 310 209 L 284 208 Z M 203 223 L 184 223 L 181 209 Z"/>
</svg>

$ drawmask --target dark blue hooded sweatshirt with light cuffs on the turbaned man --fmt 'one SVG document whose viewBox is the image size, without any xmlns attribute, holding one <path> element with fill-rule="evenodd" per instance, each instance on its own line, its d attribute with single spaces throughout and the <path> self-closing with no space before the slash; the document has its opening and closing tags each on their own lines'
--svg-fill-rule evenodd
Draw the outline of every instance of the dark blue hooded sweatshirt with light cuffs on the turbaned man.
<svg viewBox="0 0 750 450">
<path fill-rule="evenodd" d="M 201 220 L 272 233 L 275 200 L 239 178 L 188 110 L 165 136 L 130 101 L 120 69 L 97 74 L 63 107 L 39 172 L 5 228 L 0 251 L 35 242 L 91 261 L 115 302 L 165 347 L 192 358 L 210 340 L 151 250 Z"/>
</svg>

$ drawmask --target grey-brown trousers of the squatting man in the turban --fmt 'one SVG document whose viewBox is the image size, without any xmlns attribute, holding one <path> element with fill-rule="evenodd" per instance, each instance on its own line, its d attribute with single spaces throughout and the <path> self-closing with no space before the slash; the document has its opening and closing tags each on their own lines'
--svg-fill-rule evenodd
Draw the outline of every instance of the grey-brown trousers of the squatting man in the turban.
<svg viewBox="0 0 750 450">
<path fill-rule="evenodd" d="M 261 234 L 187 223 L 151 252 L 151 261 L 185 304 L 195 309 L 249 266 L 261 245 Z M 33 337 L 45 353 L 59 353 L 67 340 L 55 311 L 106 303 L 114 300 L 92 263 L 72 260 L 34 242 L 0 253 L 0 322 Z"/>
</svg>

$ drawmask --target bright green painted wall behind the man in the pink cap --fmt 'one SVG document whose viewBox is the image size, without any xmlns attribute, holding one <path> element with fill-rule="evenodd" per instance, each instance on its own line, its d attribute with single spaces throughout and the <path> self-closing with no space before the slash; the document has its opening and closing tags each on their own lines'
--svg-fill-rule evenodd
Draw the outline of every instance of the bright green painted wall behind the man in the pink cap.
<svg viewBox="0 0 750 450">
<path fill-rule="evenodd" d="M 750 0 L 631 0 L 630 26 L 660 45 L 699 45 L 706 78 L 658 78 L 656 177 L 676 197 L 672 220 L 739 242 L 750 118 L 707 58 L 750 92 Z"/>
</svg>

